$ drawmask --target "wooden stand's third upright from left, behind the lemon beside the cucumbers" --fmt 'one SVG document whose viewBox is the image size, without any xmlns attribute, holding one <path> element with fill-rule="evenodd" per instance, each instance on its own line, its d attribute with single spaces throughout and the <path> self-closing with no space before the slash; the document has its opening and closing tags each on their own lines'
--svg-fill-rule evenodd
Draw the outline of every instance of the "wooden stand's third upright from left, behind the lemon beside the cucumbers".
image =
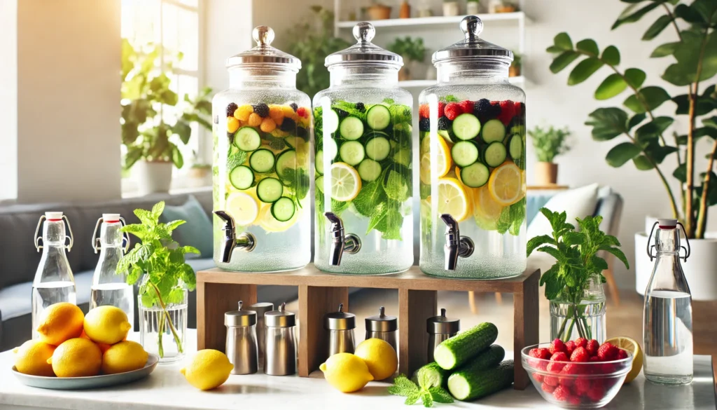
<svg viewBox="0 0 717 410">
<path fill-rule="evenodd" d="M 399 289 L 399 373 L 410 377 L 428 362 L 426 320 L 437 309 L 435 290 Z"/>
</svg>

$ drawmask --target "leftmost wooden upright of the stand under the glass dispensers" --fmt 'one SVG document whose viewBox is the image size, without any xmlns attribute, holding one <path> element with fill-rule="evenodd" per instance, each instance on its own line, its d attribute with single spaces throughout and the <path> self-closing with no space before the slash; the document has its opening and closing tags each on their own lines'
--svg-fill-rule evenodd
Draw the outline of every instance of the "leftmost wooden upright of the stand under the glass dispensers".
<svg viewBox="0 0 717 410">
<path fill-rule="evenodd" d="M 196 284 L 196 348 L 224 352 L 227 344 L 227 327 L 224 313 L 237 310 L 239 301 L 244 306 L 257 302 L 257 285 L 248 284 Z"/>
</svg>

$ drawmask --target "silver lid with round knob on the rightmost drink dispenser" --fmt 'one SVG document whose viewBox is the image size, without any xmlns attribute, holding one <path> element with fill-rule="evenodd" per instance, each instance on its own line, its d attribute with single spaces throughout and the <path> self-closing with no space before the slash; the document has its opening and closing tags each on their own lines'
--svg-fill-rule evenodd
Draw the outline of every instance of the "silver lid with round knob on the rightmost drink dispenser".
<svg viewBox="0 0 717 410">
<path fill-rule="evenodd" d="M 494 57 L 508 63 L 513 61 L 513 52 L 491 42 L 478 38 L 483 32 L 483 22 L 477 16 L 466 16 L 460 22 L 465 38 L 433 53 L 432 62 L 438 65 L 454 59 L 472 59 L 475 57 Z"/>
</svg>

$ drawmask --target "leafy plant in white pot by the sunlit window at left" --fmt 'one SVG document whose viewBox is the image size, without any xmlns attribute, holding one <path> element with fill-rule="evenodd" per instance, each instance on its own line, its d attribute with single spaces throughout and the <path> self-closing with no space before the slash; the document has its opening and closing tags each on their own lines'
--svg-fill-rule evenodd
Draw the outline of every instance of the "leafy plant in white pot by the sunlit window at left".
<svg viewBox="0 0 717 410">
<path fill-rule="evenodd" d="M 162 55 L 169 62 L 161 62 Z M 168 192 L 172 165 L 181 168 L 184 159 L 178 144 L 186 144 L 191 124 L 212 129 L 209 118 L 211 88 L 204 88 L 192 100 L 171 90 L 172 66 L 181 54 L 171 56 L 159 45 L 136 49 L 122 39 L 122 144 L 127 149 L 124 169 L 136 166 L 141 195 Z M 174 109 L 166 109 L 176 107 Z"/>
</svg>

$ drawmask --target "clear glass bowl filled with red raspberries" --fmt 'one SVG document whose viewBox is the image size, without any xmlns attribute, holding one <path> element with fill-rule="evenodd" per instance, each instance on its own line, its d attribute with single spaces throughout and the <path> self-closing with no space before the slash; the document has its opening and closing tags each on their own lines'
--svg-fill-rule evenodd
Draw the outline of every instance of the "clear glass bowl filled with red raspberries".
<svg viewBox="0 0 717 410">
<path fill-rule="evenodd" d="M 632 368 L 632 354 L 611 343 L 579 337 L 528 346 L 523 368 L 543 399 L 565 409 L 598 409 L 608 404 Z"/>
</svg>

